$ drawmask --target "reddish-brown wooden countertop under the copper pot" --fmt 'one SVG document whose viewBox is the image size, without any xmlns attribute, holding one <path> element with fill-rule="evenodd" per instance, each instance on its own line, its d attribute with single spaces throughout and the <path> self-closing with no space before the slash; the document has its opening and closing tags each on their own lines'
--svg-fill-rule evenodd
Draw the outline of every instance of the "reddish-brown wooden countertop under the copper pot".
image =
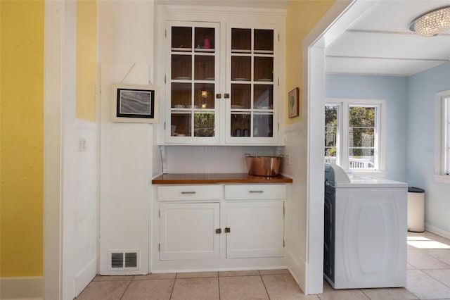
<svg viewBox="0 0 450 300">
<path fill-rule="evenodd" d="M 162 174 L 153 178 L 153 185 L 204 185 L 217 183 L 290 183 L 292 178 L 283 175 L 262 177 L 248 173 L 183 173 Z"/>
</svg>

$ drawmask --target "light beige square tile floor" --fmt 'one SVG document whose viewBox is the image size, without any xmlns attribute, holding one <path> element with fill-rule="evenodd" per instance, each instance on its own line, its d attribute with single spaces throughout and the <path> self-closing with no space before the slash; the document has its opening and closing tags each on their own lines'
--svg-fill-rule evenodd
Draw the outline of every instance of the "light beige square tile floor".
<svg viewBox="0 0 450 300">
<path fill-rule="evenodd" d="M 288 270 L 254 270 L 96 276 L 76 299 L 450 300 L 450 240 L 409 232 L 406 288 L 333 289 L 324 282 L 323 294 L 304 295 Z"/>
</svg>

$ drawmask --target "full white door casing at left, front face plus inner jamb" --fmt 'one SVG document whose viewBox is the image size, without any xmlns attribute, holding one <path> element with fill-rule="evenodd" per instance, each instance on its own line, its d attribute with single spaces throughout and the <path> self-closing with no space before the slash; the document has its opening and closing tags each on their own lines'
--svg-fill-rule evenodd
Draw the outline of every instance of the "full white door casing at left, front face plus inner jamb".
<svg viewBox="0 0 450 300">
<path fill-rule="evenodd" d="M 44 299 L 72 299 L 77 3 L 46 0 L 44 15 Z"/>
</svg>

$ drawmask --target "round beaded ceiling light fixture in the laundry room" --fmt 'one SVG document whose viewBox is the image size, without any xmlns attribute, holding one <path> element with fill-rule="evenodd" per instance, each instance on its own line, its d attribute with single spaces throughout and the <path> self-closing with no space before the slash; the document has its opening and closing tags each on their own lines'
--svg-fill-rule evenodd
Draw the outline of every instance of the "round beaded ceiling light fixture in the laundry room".
<svg viewBox="0 0 450 300">
<path fill-rule="evenodd" d="M 420 15 L 409 25 L 409 30 L 423 37 L 435 37 L 450 30 L 450 6 L 437 8 Z"/>
</svg>

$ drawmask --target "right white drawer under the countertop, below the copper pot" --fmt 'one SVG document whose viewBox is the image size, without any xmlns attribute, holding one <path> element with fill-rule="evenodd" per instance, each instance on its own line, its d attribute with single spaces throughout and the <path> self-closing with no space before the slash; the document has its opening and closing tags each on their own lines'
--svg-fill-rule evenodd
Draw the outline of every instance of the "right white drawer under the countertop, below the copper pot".
<svg viewBox="0 0 450 300">
<path fill-rule="evenodd" d="M 285 199 L 286 185 L 226 185 L 226 200 Z"/>
</svg>

